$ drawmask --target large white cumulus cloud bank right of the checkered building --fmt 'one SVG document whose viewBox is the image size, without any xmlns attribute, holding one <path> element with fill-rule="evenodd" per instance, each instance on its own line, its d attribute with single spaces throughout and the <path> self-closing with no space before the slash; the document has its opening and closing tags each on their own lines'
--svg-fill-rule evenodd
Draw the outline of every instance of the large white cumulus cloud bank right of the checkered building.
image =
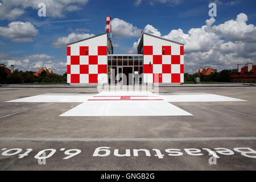
<svg viewBox="0 0 256 182">
<path fill-rule="evenodd" d="M 196 68 L 212 66 L 214 69 L 234 69 L 237 64 L 256 63 L 256 31 L 253 24 L 247 24 L 247 15 L 241 13 L 236 20 L 213 25 L 214 18 L 205 21 L 200 28 L 191 28 L 184 33 L 180 28 L 171 30 L 163 38 L 183 43 L 185 72 L 195 73 Z M 151 25 L 144 32 L 160 36 Z M 127 53 L 137 53 L 137 42 Z"/>
</svg>

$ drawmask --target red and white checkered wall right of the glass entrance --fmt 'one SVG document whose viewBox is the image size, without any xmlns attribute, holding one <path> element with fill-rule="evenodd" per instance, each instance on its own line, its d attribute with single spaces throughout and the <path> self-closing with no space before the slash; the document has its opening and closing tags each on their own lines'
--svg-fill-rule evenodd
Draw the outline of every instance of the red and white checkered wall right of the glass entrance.
<svg viewBox="0 0 256 182">
<path fill-rule="evenodd" d="M 144 82 L 184 82 L 184 47 L 180 44 L 144 36 L 143 55 Z"/>
</svg>

